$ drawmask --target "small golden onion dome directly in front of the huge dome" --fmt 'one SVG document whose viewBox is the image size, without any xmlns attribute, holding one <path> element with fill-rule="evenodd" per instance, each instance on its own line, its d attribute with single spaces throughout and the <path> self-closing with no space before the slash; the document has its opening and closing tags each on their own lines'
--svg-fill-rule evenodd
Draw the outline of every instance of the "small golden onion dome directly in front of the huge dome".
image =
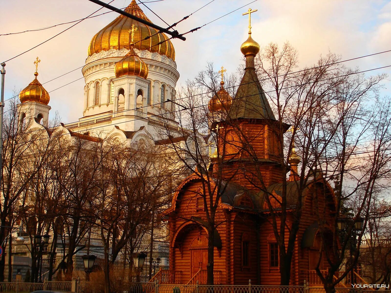
<svg viewBox="0 0 391 293">
<path fill-rule="evenodd" d="M 148 66 L 133 50 L 133 45 L 130 51 L 125 56 L 126 58 L 115 64 L 115 76 L 121 77 L 124 75 L 136 75 L 146 79 L 148 76 Z"/>
</svg>

